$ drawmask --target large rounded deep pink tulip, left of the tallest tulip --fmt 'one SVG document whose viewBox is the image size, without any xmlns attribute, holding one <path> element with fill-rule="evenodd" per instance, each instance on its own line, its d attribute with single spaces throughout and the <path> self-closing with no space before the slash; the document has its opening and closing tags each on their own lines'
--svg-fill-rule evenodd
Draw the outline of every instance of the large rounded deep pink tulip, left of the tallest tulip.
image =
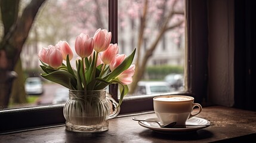
<svg viewBox="0 0 256 143">
<path fill-rule="evenodd" d="M 80 57 L 89 57 L 92 53 L 93 47 L 94 39 L 90 38 L 89 35 L 81 33 L 79 36 L 76 37 L 75 50 L 76 54 L 78 54 Z"/>
</svg>

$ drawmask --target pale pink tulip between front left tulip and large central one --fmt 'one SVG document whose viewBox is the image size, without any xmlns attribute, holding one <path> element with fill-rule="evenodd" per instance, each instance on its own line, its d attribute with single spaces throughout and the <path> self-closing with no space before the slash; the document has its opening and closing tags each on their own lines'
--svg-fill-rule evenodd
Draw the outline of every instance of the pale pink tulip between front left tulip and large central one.
<svg viewBox="0 0 256 143">
<path fill-rule="evenodd" d="M 66 61 L 67 55 L 69 55 L 69 60 L 73 58 L 73 52 L 69 46 L 69 43 L 66 41 L 59 41 L 55 46 L 60 47 L 63 60 Z"/>
</svg>

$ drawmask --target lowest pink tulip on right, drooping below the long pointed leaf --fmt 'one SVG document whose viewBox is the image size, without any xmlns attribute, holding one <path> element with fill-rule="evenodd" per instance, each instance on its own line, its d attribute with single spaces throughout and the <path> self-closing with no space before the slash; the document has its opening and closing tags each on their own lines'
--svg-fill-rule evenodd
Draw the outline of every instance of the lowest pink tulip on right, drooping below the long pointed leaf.
<svg viewBox="0 0 256 143">
<path fill-rule="evenodd" d="M 135 65 L 132 64 L 127 70 L 119 74 L 118 80 L 123 85 L 129 85 L 130 83 L 132 83 L 132 76 L 134 75 L 134 72 L 135 72 Z"/>
</svg>

